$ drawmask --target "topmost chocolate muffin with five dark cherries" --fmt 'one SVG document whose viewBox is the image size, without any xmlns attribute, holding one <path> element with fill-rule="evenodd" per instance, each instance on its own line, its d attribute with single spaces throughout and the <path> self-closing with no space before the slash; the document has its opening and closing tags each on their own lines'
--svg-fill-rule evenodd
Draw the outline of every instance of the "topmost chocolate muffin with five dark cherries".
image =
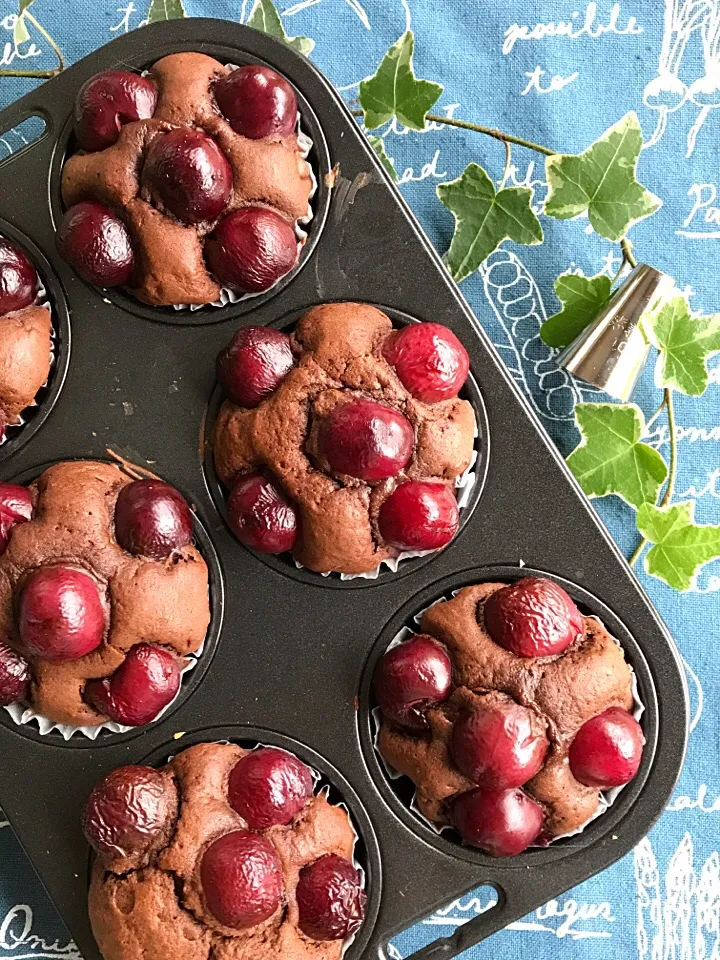
<svg viewBox="0 0 720 960">
<path fill-rule="evenodd" d="M 80 89 L 79 152 L 63 168 L 61 254 L 89 283 L 145 303 L 269 289 L 297 262 L 310 165 L 295 92 L 274 70 L 201 53 Z"/>
</svg>

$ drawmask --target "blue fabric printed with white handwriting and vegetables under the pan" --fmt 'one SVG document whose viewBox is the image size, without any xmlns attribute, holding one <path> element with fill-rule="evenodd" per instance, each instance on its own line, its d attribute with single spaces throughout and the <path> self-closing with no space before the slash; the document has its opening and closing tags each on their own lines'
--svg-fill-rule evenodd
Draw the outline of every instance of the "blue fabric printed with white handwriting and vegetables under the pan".
<svg viewBox="0 0 720 960">
<path fill-rule="evenodd" d="M 246 19 L 252 0 L 185 0 L 189 15 Z M 126 5 L 123 5 L 126 4 Z M 149 0 L 36 0 L 32 13 L 74 61 L 138 27 Z M 13 43 L 15 3 L 0 0 L 2 65 L 52 66 L 47 40 Z M 637 253 L 687 286 L 706 313 L 720 308 L 720 0 L 280 0 L 290 35 L 316 41 L 312 57 L 348 99 L 406 29 L 416 35 L 419 75 L 444 84 L 439 109 L 577 152 L 629 110 L 642 124 L 642 181 L 662 197 L 661 211 L 632 231 Z M 201 39 L 198 33 L 198 40 Z M 33 81 L 0 79 L 0 105 Z M 705 105 L 693 96 L 706 92 Z M 698 97 L 698 99 L 700 99 Z M 0 148 L 17 146 L 0 138 Z M 500 177 L 502 145 L 431 124 L 422 134 L 393 125 L 387 151 L 405 197 L 440 251 L 452 217 L 435 186 L 459 176 L 471 160 Z M 546 192 L 542 159 L 513 154 L 511 180 Z M 541 247 L 505 244 L 463 285 L 480 323 L 564 453 L 577 442 L 572 408 L 586 391 L 553 372 L 538 329 L 558 304 L 552 281 L 577 268 L 586 274 L 619 265 L 618 247 L 588 233 L 587 221 L 542 217 Z M 713 366 L 714 365 L 714 366 Z M 681 467 L 677 491 L 696 502 L 701 523 L 720 520 L 720 363 L 700 401 L 677 402 Z M 597 394 L 593 394 L 597 398 Z M 648 369 L 636 399 L 649 414 L 658 392 Z M 654 444 L 668 452 L 667 427 Z M 629 508 L 598 501 L 620 547 L 635 546 Z M 706 567 L 679 595 L 644 573 L 643 586 L 674 634 L 692 698 L 685 770 L 667 811 L 634 853 L 470 951 L 510 960 L 710 960 L 720 958 L 720 700 L 717 647 L 720 564 Z M 0 958 L 73 957 L 77 951 L 49 904 L 12 831 L 0 821 Z M 394 957 L 413 950 L 488 907 L 481 891 L 398 936 Z"/>
</svg>

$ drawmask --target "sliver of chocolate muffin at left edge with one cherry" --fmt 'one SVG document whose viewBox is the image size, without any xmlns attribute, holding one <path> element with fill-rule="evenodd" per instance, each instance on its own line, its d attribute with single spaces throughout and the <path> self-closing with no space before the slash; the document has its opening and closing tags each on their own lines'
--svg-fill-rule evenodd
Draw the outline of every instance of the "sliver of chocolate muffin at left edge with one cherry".
<svg viewBox="0 0 720 960">
<path fill-rule="evenodd" d="M 0 441 L 47 382 L 52 362 L 50 310 L 27 254 L 0 236 Z"/>
</svg>

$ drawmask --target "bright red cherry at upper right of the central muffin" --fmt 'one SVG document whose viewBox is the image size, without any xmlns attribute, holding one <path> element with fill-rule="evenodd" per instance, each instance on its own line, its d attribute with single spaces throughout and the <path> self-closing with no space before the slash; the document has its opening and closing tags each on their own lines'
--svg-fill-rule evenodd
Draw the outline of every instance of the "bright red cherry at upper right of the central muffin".
<svg viewBox="0 0 720 960">
<path fill-rule="evenodd" d="M 424 403 L 456 397 L 470 370 L 467 350 L 441 323 L 403 327 L 387 338 L 383 355 L 403 386 Z"/>
</svg>

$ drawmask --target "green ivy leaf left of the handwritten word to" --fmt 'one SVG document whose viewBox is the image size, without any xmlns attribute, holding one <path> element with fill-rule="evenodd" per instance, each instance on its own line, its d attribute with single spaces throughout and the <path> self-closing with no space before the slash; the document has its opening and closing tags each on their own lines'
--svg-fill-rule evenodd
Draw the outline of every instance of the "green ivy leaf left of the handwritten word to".
<svg viewBox="0 0 720 960">
<path fill-rule="evenodd" d="M 393 117 L 413 130 L 425 128 L 425 114 L 443 91 L 439 83 L 418 80 L 413 70 L 415 37 L 408 30 L 394 43 L 372 77 L 360 84 L 365 127 L 374 130 Z"/>
</svg>

